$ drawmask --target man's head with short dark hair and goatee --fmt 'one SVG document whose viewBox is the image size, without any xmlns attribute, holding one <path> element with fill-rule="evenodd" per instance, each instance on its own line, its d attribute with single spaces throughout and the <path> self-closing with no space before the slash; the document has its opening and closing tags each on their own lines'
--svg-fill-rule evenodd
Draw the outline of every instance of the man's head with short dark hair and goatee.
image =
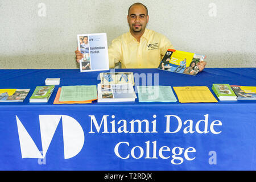
<svg viewBox="0 0 256 182">
<path fill-rule="evenodd" d="M 148 23 L 147 10 L 142 5 L 134 5 L 130 8 L 127 15 L 130 30 L 135 32 L 144 32 Z"/>
</svg>

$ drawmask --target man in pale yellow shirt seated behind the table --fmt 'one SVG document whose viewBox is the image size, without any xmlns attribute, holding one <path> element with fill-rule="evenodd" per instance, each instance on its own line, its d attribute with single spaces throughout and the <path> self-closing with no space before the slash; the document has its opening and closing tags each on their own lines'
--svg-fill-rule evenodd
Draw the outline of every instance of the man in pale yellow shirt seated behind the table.
<svg viewBox="0 0 256 182">
<path fill-rule="evenodd" d="M 122 68 L 158 68 L 168 48 L 174 49 L 170 40 L 158 32 L 148 30 L 147 7 L 134 3 L 129 7 L 127 22 L 130 31 L 112 41 L 109 46 L 109 67 L 121 63 Z M 77 62 L 81 59 L 76 52 Z"/>
</svg>

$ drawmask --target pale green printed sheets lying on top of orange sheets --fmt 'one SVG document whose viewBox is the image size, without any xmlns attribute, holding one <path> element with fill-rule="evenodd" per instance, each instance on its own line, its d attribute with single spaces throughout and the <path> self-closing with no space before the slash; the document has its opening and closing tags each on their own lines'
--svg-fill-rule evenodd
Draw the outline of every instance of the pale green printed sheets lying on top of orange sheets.
<svg viewBox="0 0 256 182">
<path fill-rule="evenodd" d="M 86 104 L 97 100 L 96 85 L 61 86 L 53 104 Z"/>
</svg>

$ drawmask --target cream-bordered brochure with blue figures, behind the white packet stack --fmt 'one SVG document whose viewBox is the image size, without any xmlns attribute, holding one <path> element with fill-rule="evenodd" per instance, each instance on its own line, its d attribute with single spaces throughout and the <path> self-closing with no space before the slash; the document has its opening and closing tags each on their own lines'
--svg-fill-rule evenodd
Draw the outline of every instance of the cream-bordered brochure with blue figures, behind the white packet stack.
<svg viewBox="0 0 256 182">
<path fill-rule="evenodd" d="M 101 84 L 132 84 L 134 86 L 133 72 L 100 73 Z"/>
</svg>

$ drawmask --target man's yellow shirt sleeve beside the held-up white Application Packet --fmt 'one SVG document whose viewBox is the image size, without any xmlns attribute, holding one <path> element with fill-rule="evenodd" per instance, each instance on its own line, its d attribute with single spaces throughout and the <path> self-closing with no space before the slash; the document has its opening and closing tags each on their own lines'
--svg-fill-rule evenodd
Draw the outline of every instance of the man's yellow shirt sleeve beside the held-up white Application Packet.
<svg viewBox="0 0 256 182">
<path fill-rule="evenodd" d="M 118 39 L 114 39 L 108 48 L 109 68 L 114 68 L 115 64 L 121 62 L 122 46 Z"/>
</svg>

